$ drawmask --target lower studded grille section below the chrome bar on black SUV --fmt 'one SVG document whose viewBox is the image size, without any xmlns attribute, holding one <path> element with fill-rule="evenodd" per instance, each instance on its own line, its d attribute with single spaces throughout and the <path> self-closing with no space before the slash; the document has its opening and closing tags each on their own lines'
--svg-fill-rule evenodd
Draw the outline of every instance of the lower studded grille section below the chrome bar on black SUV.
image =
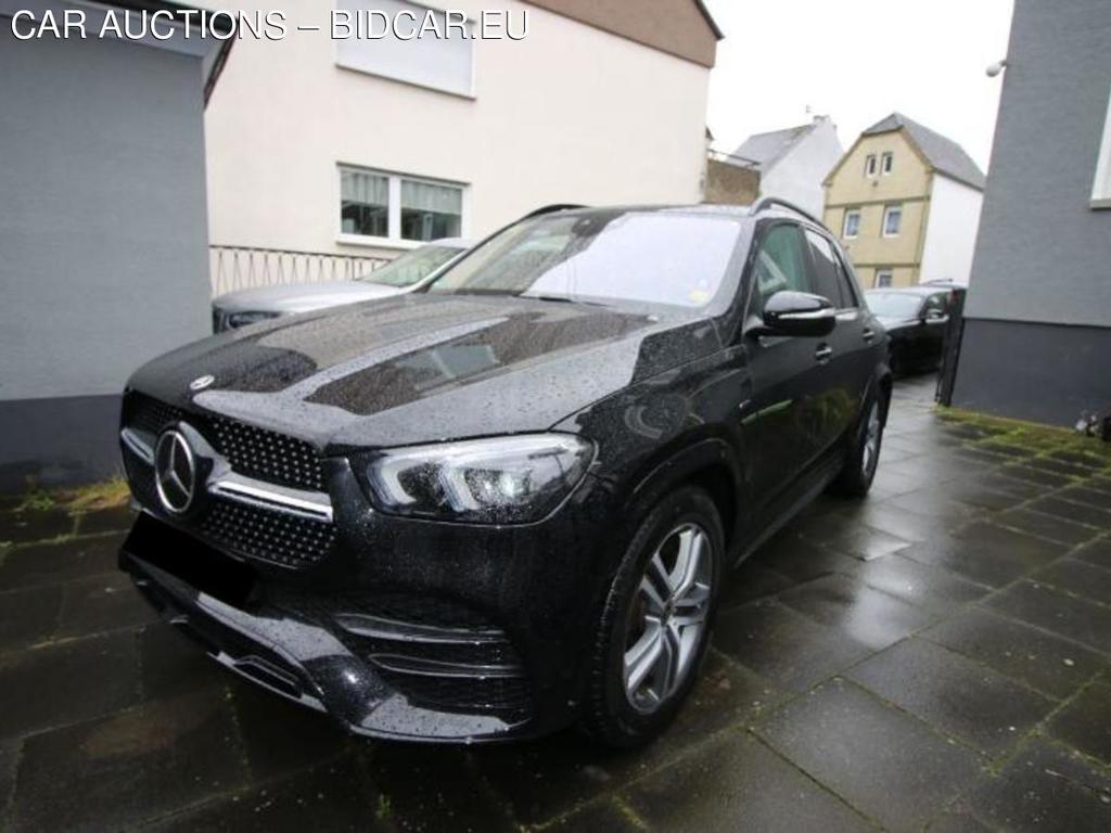
<svg viewBox="0 0 1111 833">
<path fill-rule="evenodd" d="M 240 555 L 294 569 L 318 563 L 336 542 L 336 528 L 324 521 L 220 499 L 204 510 L 200 534 Z"/>
</svg>

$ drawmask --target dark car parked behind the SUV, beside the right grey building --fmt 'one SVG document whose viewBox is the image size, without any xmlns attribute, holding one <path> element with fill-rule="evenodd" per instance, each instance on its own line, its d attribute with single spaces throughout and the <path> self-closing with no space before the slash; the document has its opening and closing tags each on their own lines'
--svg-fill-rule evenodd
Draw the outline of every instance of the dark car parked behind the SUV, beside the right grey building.
<svg viewBox="0 0 1111 833">
<path fill-rule="evenodd" d="M 963 291 L 949 283 L 923 283 L 865 292 L 868 308 L 888 331 L 888 363 L 895 375 L 932 370 L 941 363 L 953 297 Z"/>
</svg>

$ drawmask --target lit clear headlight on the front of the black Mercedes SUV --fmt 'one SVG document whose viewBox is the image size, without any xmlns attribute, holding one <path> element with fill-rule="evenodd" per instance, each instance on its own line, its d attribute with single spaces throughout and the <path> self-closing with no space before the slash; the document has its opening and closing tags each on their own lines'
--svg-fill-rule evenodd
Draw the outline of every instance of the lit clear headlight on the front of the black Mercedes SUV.
<svg viewBox="0 0 1111 833">
<path fill-rule="evenodd" d="M 522 434 L 383 451 L 363 473 L 386 512 L 528 523 L 571 493 L 592 456 L 593 446 L 571 434 Z"/>
</svg>

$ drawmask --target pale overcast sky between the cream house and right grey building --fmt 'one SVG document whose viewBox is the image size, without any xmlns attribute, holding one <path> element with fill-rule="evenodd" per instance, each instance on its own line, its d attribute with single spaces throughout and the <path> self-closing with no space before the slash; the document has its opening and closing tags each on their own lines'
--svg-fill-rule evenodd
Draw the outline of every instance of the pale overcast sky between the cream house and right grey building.
<svg viewBox="0 0 1111 833">
<path fill-rule="evenodd" d="M 984 170 L 1013 0 L 704 0 L 725 34 L 710 74 L 713 147 L 833 117 L 845 149 L 894 110 Z M 1005 70 L 1004 70 L 1005 72 Z"/>
</svg>

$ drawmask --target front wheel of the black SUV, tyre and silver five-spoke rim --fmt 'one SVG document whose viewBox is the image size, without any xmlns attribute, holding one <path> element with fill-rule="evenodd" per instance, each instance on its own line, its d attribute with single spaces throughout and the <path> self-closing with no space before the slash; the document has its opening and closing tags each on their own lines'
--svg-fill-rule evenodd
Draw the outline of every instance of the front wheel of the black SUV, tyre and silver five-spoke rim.
<svg viewBox="0 0 1111 833">
<path fill-rule="evenodd" d="M 694 549 L 701 555 L 692 563 L 684 552 Z M 652 741 L 675 716 L 705 654 L 723 561 L 717 506 L 695 486 L 660 500 L 632 532 L 591 655 L 582 727 L 595 741 L 634 749 Z M 687 582 L 679 581 L 681 563 L 694 566 L 685 593 L 681 588 Z M 677 585 L 680 592 L 674 592 Z"/>
</svg>

